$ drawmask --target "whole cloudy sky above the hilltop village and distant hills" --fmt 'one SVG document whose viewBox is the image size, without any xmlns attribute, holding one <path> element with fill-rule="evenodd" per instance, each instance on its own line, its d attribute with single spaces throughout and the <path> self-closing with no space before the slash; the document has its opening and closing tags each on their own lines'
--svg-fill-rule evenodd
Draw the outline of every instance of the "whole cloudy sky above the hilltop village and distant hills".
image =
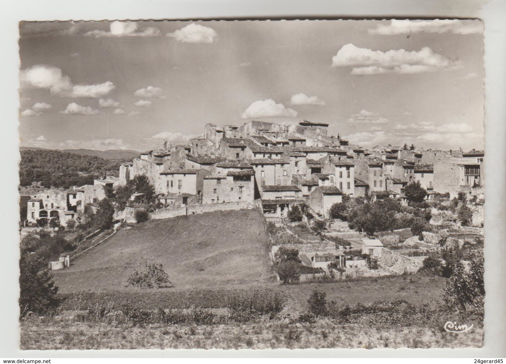
<svg viewBox="0 0 506 364">
<path fill-rule="evenodd" d="M 158 148 L 206 123 L 328 123 L 364 147 L 483 148 L 479 21 L 22 23 L 21 145 Z"/>
</svg>

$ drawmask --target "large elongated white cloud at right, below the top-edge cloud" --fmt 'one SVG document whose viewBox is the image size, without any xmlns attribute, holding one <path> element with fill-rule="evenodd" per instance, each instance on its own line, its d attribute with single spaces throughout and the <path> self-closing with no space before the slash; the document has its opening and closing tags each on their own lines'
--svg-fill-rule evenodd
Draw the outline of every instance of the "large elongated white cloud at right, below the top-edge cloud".
<svg viewBox="0 0 506 364">
<path fill-rule="evenodd" d="M 353 44 L 343 46 L 332 57 L 333 67 L 353 67 L 351 75 L 377 75 L 395 72 L 419 74 L 421 72 L 453 70 L 462 67 L 460 61 L 450 60 L 434 53 L 429 47 L 420 51 L 404 49 L 373 51 Z"/>
</svg>

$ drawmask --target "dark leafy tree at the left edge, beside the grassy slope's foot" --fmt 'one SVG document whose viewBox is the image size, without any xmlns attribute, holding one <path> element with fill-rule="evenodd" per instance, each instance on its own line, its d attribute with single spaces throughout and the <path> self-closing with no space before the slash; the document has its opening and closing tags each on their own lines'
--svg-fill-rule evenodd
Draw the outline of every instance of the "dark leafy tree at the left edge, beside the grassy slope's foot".
<svg viewBox="0 0 506 364">
<path fill-rule="evenodd" d="M 23 253 L 19 260 L 19 311 L 20 317 L 29 312 L 45 314 L 60 304 L 56 294 L 58 287 L 54 285 L 48 270 L 39 271 L 42 262 L 36 254 Z"/>
</svg>

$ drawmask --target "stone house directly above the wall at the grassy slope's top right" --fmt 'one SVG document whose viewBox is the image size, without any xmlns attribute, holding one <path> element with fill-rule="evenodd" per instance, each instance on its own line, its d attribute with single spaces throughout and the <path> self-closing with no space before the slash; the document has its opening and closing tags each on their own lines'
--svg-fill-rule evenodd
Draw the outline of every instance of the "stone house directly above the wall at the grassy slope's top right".
<svg viewBox="0 0 506 364">
<path fill-rule="evenodd" d="M 203 204 L 254 200 L 255 172 L 252 169 L 208 174 L 203 179 Z"/>
</svg>

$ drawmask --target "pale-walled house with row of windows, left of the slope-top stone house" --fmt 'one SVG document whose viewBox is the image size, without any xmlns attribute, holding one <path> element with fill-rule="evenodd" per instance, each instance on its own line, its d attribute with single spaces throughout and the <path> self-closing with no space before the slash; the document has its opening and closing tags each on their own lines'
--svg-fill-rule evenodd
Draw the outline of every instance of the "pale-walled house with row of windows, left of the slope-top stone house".
<svg viewBox="0 0 506 364">
<path fill-rule="evenodd" d="M 162 194 L 187 193 L 202 198 L 203 178 L 210 174 L 206 169 L 166 169 L 159 173 Z"/>
</svg>

